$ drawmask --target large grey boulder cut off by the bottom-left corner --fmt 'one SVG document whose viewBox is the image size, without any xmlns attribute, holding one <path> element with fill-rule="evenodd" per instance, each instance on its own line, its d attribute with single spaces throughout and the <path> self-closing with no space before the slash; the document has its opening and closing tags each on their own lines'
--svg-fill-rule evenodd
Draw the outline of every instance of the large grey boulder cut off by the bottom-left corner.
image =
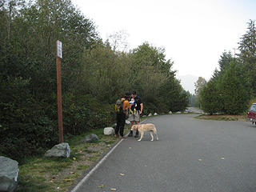
<svg viewBox="0 0 256 192">
<path fill-rule="evenodd" d="M 0 192 L 13 192 L 17 187 L 18 162 L 0 156 Z"/>
</svg>

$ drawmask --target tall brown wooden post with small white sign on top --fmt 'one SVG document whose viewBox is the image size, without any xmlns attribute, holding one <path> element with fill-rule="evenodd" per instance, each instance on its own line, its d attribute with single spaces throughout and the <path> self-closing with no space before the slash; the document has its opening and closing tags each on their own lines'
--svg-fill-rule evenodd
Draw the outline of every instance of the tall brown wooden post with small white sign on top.
<svg viewBox="0 0 256 192">
<path fill-rule="evenodd" d="M 56 42 L 56 66 L 57 66 L 58 134 L 59 134 L 59 143 L 64 142 L 64 139 L 63 139 L 63 122 L 62 122 L 61 58 L 62 58 L 62 42 L 57 41 Z"/>
</svg>

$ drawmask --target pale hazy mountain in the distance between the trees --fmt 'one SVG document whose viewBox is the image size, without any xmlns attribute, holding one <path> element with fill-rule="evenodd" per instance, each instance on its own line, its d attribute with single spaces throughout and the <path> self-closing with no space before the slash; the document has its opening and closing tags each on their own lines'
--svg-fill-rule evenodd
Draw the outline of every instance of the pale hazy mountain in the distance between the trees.
<svg viewBox="0 0 256 192">
<path fill-rule="evenodd" d="M 194 94 L 194 83 L 198 81 L 198 77 L 191 74 L 177 75 L 176 77 L 181 80 L 181 85 L 184 90 L 188 90 L 190 94 Z"/>
</svg>

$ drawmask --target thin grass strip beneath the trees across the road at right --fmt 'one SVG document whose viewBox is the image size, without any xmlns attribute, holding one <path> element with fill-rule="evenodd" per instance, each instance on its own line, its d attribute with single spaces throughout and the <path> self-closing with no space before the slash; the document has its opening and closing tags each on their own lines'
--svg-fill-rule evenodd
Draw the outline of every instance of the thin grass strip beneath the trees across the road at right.
<svg viewBox="0 0 256 192">
<path fill-rule="evenodd" d="M 217 121 L 237 121 L 237 122 L 246 122 L 246 115 L 230 115 L 230 114 L 214 114 L 214 115 L 199 115 L 194 117 L 197 119 L 205 120 L 217 120 Z"/>
</svg>

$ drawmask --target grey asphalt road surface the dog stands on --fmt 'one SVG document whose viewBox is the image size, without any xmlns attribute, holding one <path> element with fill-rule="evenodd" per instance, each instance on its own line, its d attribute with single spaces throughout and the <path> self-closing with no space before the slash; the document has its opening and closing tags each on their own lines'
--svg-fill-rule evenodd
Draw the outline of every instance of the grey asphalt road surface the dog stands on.
<svg viewBox="0 0 256 192">
<path fill-rule="evenodd" d="M 77 191 L 256 191 L 256 127 L 193 117 L 148 118 L 160 140 L 126 138 Z"/>
</svg>

